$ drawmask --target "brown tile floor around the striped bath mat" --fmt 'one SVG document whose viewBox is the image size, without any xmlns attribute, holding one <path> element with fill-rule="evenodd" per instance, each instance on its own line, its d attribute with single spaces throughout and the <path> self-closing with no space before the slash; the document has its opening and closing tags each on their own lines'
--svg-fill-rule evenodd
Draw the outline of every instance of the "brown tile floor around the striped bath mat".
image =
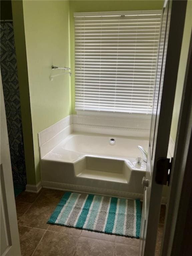
<svg viewBox="0 0 192 256">
<path fill-rule="evenodd" d="M 22 256 L 137 256 L 139 239 L 47 224 L 64 192 L 42 189 L 16 197 Z M 162 207 L 156 256 L 159 255 L 165 207 Z"/>
</svg>

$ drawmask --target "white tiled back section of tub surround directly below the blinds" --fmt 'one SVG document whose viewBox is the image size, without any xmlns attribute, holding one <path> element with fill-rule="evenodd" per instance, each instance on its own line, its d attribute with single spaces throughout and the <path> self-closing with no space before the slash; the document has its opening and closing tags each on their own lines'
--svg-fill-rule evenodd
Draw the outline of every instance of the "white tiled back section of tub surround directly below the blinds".
<svg viewBox="0 0 192 256">
<path fill-rule="evenodd" d="M 88 112 L 89 113 L 89 112 Z M 150 115 L 98 113 L 73 115 L 73 132 L 99 133 L 128 137 L 149 137 Z"/>
</svg>

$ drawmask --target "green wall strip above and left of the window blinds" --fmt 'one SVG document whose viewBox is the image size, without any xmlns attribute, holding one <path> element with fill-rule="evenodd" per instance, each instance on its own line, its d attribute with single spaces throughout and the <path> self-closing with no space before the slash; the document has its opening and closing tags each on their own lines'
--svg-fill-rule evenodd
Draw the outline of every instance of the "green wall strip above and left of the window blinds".
<svg viewBox="0 0 192 256">
<path fill-rule="evenodd" d="M 135 11 L 135 10 L 162 10 L 164 1 L 128 0 L 128 1 L 70 1 L 70 47 L 71 47 L 71 101 L 72 113 L 75 112 L 75 35 L 74 12 L 106 12 L 106 11 Z"/>
</svg>

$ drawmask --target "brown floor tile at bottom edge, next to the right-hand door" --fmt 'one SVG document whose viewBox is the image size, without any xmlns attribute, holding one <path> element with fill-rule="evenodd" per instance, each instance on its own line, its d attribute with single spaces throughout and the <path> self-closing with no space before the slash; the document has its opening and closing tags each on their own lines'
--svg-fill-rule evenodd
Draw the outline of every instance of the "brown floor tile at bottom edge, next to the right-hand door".
<svg viewBox="0 0 192 256">
<path fill-rule="evenodd" d="M 139 247 L 127 244 L 115 244 L 114 256 L 138 256 Z"/>
</svg>

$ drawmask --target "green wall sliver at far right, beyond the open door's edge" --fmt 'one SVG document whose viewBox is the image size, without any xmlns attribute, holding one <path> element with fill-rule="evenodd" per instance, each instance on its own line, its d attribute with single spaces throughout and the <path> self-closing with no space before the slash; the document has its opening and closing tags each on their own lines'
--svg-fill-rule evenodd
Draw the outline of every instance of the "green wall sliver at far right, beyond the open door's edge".
<svg viewBox="0 0 192 256">
<path fill-rule="evenodd" d="M 172 123 L 171 123 L 171 134 L 170 135 L 174 142 L 176 140 L 176 134 L 177 134 L 179 111 L 180 111 L 180 106 L 181 106 L 181 97 L 182 97 L 183 84 L 184 84 L 184 79 L 185 79 L 185 70 L 186 70 L 186 65 L 187 65 L 187 57 L 188 57 L 188 51 L 189 51 L 191 31 L 192 31 L 192 1 L 188 0 L 187 9 L 186 9 L 186 17 L 185 17 L 185 27 L 184 27 L 184 32 L 183 32 L 181 55 L 180 55 L 180 61 L 179 61 L 179 70 L 178 70 L 178 76 L 177 76 L 173 117 L 172 117 Z"/>
</svg>

